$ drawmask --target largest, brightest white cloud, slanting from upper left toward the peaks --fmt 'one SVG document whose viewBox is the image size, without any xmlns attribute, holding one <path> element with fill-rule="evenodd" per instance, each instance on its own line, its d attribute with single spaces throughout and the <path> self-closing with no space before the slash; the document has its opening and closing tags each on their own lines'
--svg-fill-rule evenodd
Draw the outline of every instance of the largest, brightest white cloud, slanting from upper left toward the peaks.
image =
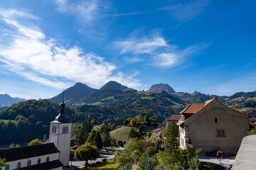
<svg viewBox="0 0 256 170">
<path fill-rule="evenodd" d="M 0 20 L 6 23 L 5 28 L 8 30 L 4 35 L 6 42 L 0 44 L 0 61 L 6 64 L 5 68 L 9 71 L 60 89 L 66 87 L 68 81 L 82 81 L 100 87 L 110 80 L 140 88 L 139 80 L 132 76 L 122 72 L 114 74 L 117 67 L 104 58 L 92 52 L 84 54 L 78 46 L 65 48 L 58 45 L 58 40 L 47 38 L 39 28 L 22 25 L 16 19 L 18 13 L 22 12 L 0 10 Z M 36 18 L 30 13 L 23 15 L 26 16 Z"/>
</svg>

